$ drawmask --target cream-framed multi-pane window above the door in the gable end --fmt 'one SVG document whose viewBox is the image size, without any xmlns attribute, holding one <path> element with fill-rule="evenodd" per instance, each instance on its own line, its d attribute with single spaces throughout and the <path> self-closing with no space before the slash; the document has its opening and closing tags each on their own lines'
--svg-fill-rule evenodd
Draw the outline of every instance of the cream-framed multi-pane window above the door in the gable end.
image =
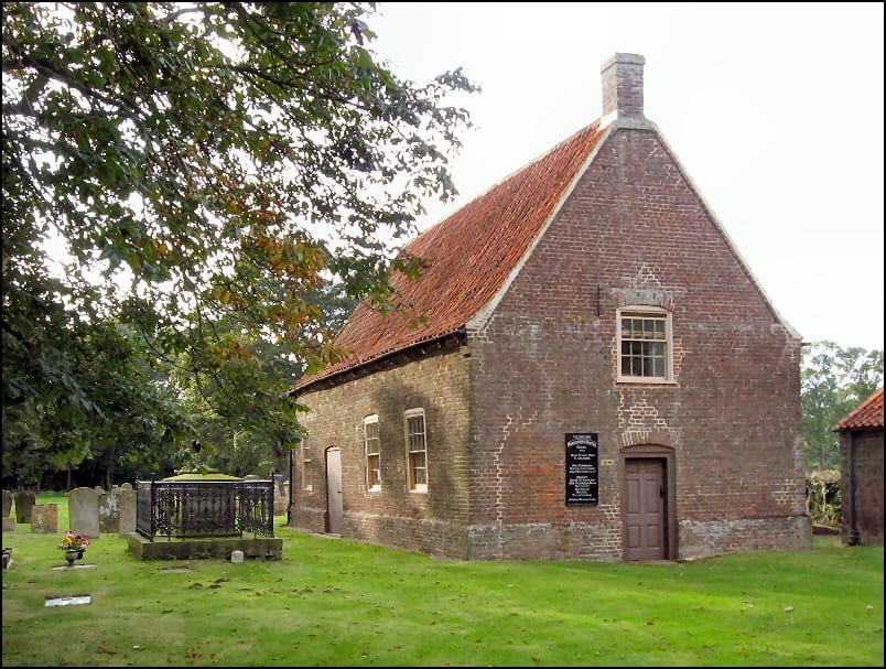
<svg viewBox="0 0 886 669">
<path fill-rule="evenodd" d="M 671 312 L 659 306 L 623 306 L 618 319 L 618 380 L 673 380 Z"/>
</svg>

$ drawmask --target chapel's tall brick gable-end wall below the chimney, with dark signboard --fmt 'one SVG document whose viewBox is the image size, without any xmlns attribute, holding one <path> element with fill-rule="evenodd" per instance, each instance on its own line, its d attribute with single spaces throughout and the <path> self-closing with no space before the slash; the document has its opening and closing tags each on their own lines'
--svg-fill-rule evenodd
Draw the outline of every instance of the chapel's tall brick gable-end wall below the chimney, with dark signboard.
<svg viewBox="0 0 886 669">
<path fill-rule="evenodd" d="M 616 382 L 616 309 L 672 309 L 676 384 Z M 602 148 L 473 333 L 472 558 L 622 555 L 623 449 L 674 450 L 680 558 L 809 546 L 800 342 L 649 131 Z M 599 505 L 564 505 L 564 433 L 599 434 Z"/>
</svg>

